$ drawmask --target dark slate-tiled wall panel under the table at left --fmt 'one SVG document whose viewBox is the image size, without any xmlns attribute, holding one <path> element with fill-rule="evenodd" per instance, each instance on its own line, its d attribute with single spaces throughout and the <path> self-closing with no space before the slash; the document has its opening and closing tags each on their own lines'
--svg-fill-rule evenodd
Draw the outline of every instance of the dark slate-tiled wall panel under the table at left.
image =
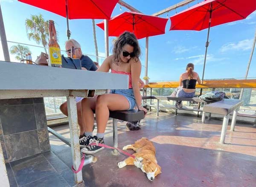
<svg viewBox="0 0 256 187">
<path fill-rule="evenodd" d="M 0 99 L 0 142 L 6 162 L 50 150 L 44 99 Z"/>
</svg>

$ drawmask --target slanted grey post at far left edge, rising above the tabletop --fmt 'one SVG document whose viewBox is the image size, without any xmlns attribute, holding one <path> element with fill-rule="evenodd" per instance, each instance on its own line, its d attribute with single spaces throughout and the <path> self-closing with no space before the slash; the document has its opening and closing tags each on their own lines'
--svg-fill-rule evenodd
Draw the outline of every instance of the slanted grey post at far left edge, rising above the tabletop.
<svg viewBox="0 0 256 187">
<path fill-rule="evenodd" d="M 2 11 L 1 11 L 1 6 L 0 6 L 0 38 L 1 38 L 1 43 L 3 46 L 4 60 L 7 62 L 10 62 L 10 55 L 9 55 L 9 51 L 8 51 L 6 33 L 5 33 L 5 29 L 4 29 L 4 24 L 3 24 L 3 15 L 2 15 Z"/>
</svg>

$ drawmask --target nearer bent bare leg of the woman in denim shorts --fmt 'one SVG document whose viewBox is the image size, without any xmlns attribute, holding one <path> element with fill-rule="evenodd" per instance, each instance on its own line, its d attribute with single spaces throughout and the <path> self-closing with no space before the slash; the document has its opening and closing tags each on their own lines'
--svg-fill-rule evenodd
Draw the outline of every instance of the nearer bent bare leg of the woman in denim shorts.
<svg viewBox="0 0 256 187">
<path fill-rule="evenodd" d="M 125 96 L 105 94 L 98 96 L 96 102 L 97 133 L 104 133 L 108 123 L 109 111 L 124 111 L 130 108 Z"/>
</svg>

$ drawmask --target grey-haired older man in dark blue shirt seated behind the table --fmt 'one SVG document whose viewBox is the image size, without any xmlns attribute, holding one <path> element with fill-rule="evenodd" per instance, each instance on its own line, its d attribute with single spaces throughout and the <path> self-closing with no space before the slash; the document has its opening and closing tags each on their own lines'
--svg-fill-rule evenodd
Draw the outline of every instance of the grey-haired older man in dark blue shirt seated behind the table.
<svg viewBox="0 0 256 187">
<path fill-rule="evenodd" d="M 69 57 L 71 57 L 71 46 L 74 46 L 75 48 L 75 53 L 76 53 L 76 58 L 79 58 L 81 60 L 81 67 L 82 70 L 88 70 L 88 71 L 96 71 L 97 67 L 95 65 L 95 63 L 86 55 L 82 54 L 82 50 L 81 50 L 81 46 L 79 44 L 79 42 L 77 42 L 74 39 L 70 39 L 67 40 L 67 42 L 65 42 L 65 49 L 66 49 L 66 53 Z M 81 101 L 82 101 L 82 97 L 76 97 L 76 106 L 77 106 L 77 117 L 78 117 L 78 124 L 79 124 L 79 133 L 80 133 L 80 137 L 82 138 L 84 136 L 84 125 L 82 124 L 82 117 L 81 117 Z M 60 110 L 62 113 L 64 113 L 67 116 L 67 102 L 64 102 L 61 104 L 60 106 Z"/>
</svg>

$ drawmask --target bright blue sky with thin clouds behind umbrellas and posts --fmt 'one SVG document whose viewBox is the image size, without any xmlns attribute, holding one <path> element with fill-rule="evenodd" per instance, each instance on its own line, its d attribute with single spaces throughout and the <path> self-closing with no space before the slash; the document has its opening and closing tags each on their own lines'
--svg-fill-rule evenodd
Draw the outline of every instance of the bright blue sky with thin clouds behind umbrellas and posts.
<svg viewBox="0 0 256 187">
<path fill-rule="evenodd" d="M 125 0 L 134 8 L 144 14 L 154 14 L 172 6 L 181 0 Z M 143 3 L 144 2 L 144 3 Z M 201 0 L 199 0 L 201 2 Z M 190 3 L 189 6 L 197 2 Z M 64 50 L 66 37 L 66 18 L 58 16 L 40 8 L 17 2 L 17 0 L 0 0 L 3 20 L 8 41 L 37 45 L 33 40 L 29 41 L 26 35 L 25 20 L 31 14 L 43 14 L 45 20 L 54 20 L 58 31 L 58 42 Z M 177 8 L 180 12 L 188 6 Z M 86 11 L 86 9 L 85 9 Z M 116 5 L 112 16 L 127 11 L 119 4 Z M 175 11 L 168 13 L 168 16 L 175 14 Z M 163 14 L 160 17 L 167 17 Z M 95 20 L 99 23 L 102 20 Z M 202 76 L 205 42 L 207 39 L 207 29 L 203 31 L 169 31 L 170 20 L 166 25 L 166 34 L 149 38 L 148 49 L 148 77 L 150 81 L 170 81 L 177 80 L 184 72 L 186 64 L 195 64 L 195 71 Z M 253 44 L 253 37 L 256 29 L 256 11 L 247 19 L 233 23 L 212 27 L 210 30 L 207 64 L 204 79 L 221 78 L 242 78 L 245 76 L 248 60 Z M 93 29 L 91 20 L 70 20 L 71 38 L 81 43 L 81 48 L 85 54 L 95 55 L 93 42 Z M 96 35 L 99 48 L 99 56 L 105 56 L 104 31 L 96 26 Z M 110 50 L 112 49 L 110 37 Z M 141 77 L 144 77 L 145 64 L 145 39 L 139 40 L 143 55 L 141 58 L 143 69 Z M 9 48 L 14 43 L 9 42 Z M 44 51 L 43 48 L 29 47 L 32 51 L 32 59 Z M 94 58 L 94 57 L 92 57 Z M 0 44 L 0 60 L 4 60 L 2 46 Z M 11 60 L 16 61 L 11 55 Z M 94 60 L 94 59 L 93 59 Z M 100 61 L 102 62 L 102 60 Z M 248 77 L 256 77 L 256 51 L 250 65 Z"/>
</svg>

